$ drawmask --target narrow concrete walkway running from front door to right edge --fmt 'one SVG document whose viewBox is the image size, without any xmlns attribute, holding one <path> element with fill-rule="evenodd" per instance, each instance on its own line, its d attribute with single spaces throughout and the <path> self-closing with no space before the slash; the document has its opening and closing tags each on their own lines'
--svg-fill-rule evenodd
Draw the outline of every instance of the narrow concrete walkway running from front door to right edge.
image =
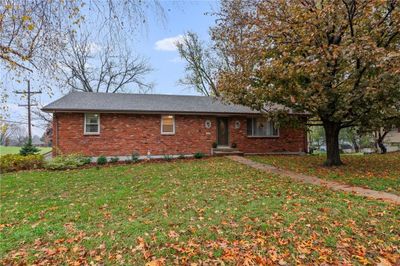
<svg viewBox="0 0 400 266">
<path fill-rule="evenodd" d="M 241 156 L 227 156 L 227 157 L 235 162 L 239 162 L 239 163 L 248 165 L 250 167 L 253 167 L 255 169 L 258 169 L 258 170 L 261 170 L 264 172 L 278 174 L 278 175 L 282 175 L 282 176 L 288 176 L 295 181 L 299 181 L 299 182 L 303 182 L 303 183 L 307 183 L 307 184 L 313 184 L 313 185 L 317 185 L 317 186 L 325 186 L 332 190 L 351 192 L 351 193 L 355 193 L 360 196 L 389 201 L 389 202 L 400 205 L 400 196 L 397 196 L 395 194 L 391 194 L 391 193 L 387 193 L 387 192 L 383 192 L 383 191 L 376 191 L 376 190 L 362 188 L 362 187 L 353 187 L 353 186 L 345 185 L 345 184 L 338 183 L 335 181 L 323 180 L 323 179 L 320 179 L 315 176 L 303 175 L 303 174 L 295 173 L 292 171 L 284 170 L 281 168 L 277 168 L 277 167 L 274 167 L 274 166 L 271 166 L 268 164 L 258 163 L 258 162 L 252 161 L 250 159 L 247 159 L 245 157 L 241 157 Z"/>
</svg>

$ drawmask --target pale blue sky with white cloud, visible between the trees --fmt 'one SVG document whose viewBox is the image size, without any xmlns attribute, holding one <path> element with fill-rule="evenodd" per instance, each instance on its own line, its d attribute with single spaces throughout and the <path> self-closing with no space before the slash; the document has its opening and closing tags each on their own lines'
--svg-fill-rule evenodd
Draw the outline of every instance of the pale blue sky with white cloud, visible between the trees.
<svg viewBox="0 0 400 266">
<path fill-rule="evenodd" d="M 187 31 L 193 31 L 201 40 L 209 41 L 209 28 L 214 25 L 215 17 L 207 14 L 218 9 L 216 1 L 160 1 L 164 12 L 165 21 L 160 21 L 150 14 L 146 26 L 138 31 L 137 36 L 129 41 L 132 50 L 137 55 L 147 59 L 153 71 L 147 76 L 147 80 L 154 84 L 150 93 L 157 94 L 198 94 L 194 89 L 178 84 L 178 80 L 185 74 L 185 62 L 179 57 L 175 42 L 182 38 Z M 90 16 L 90 14 L 88 14 Z M 90 19 L 90 18 L 89 18 Z M 7 81 L 7 84 L 15 90 L 25 90 L 25 83 Z M 50 83 L 50 82 L 49 82 Z M 32 83 L 32 90 L 36 90 Z M 42 93 L 34 98 L 40 106 L 44 106 L 68 92 L 60 88 L 52 88 L 53 95 Z M 9 109 L 8 120 L 20 123 L 27 122 L 27 110 L 18 104 L 25 104 L 26 99 L 11 93 L 7 102 Z M 33 121 L 33 135 L 41 136 L 43 126 Z"/>
</svg>

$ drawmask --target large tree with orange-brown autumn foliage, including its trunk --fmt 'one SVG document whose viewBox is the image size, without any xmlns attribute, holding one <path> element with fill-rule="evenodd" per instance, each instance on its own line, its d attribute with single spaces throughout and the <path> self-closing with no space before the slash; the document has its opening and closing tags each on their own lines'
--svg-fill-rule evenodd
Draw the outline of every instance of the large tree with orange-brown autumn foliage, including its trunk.
<svg viewBox="0 0 400 266">
<path fill-rule="evenodd" d="M 227 1 L 217 16 L 222 95 L 317 118 L 327 165 L 342 163 L 342 128 L 400 116 L 400 1 Z"/>
</svg>

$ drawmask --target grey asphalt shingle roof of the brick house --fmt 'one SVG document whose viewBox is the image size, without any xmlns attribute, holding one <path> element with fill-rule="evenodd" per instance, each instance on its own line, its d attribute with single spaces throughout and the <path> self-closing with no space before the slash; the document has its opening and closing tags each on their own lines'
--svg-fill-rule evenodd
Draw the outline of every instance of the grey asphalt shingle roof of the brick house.
<svg viewBox="0 0 400 266">
<path fill-rule="evenodd" d="M 71 92 L 42 108 L 46 112 L 104 111 L 132 113 L 257 114 L 242 105 L 206 96 Z"/>
</svg>

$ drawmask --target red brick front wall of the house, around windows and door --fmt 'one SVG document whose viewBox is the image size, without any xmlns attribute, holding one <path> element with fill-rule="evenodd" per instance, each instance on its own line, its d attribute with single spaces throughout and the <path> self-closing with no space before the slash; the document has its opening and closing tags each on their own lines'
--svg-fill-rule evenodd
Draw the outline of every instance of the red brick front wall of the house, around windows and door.
<svg viewBox="0 0 400 266">
<path fill-rule="evenodd" d="M 205 121 L 212 122 L 210 129 Z M 234 128 L 239 120 L 241 126 Z M 100 114 L 100 134 L 84 135 L 84 114 L 57 113 L 54 116 L 53 145 L 56 153 L 82 153 L 87 156 L 129 156 L 133 151 L 140 155 L 210 154 L 217 139 L 216 118 L 212 116 L 175 116 L 175 135 L 161 135 L 160 115 Z M 248 138 L 246 118 L 229 118 L 230 143 L 246 153 L 304 151 L 303 130 L 281 129 L 279 138 Z"/>
</svg>

